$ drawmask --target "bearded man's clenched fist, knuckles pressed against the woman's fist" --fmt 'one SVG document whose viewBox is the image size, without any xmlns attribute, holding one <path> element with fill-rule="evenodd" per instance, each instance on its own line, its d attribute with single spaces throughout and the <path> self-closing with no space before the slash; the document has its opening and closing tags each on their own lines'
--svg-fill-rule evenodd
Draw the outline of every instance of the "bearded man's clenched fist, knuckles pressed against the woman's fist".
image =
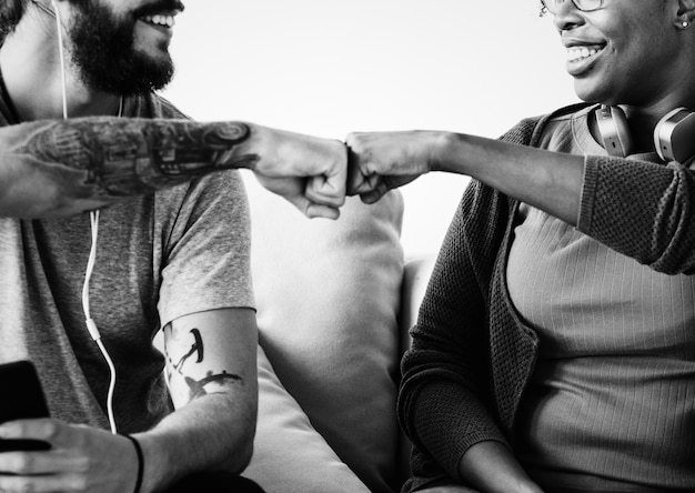
<svg viewBox="0 0 695 493">
<path fill-rule="evenodd" d="M 253 129 L 259 182 L 284 197 L 309 218 L 338 219 L 345 203 L 348 150 L 338 140 L 269 128 Z"/>
</svg>

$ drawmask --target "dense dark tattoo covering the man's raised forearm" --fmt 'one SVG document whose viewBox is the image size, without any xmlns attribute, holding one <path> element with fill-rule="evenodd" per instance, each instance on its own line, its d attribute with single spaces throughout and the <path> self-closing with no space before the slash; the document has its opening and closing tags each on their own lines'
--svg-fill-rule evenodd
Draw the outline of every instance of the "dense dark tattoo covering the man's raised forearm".
<svg viewBox="0 0 695 493">
<path fill-rule="evenodd" d="M 215 170 L 251 168 L 259 155 L 239 147 L 251 137 L 238 122 L 89 118 L 51 122 L 17 152 L 84 171 L 95 198 L 150 193 Z"/>
</svg>

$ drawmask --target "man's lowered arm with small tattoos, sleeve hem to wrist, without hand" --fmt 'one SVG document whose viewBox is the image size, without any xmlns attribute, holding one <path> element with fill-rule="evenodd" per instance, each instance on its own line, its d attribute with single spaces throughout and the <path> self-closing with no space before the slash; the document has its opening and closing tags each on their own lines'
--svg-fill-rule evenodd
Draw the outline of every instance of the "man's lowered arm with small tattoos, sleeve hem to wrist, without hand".
<svg viewBox="0 0 695 493">
<path fill-rule="evenodd" d="M 253 447 L 258 409 L 255 313 L 213 310 L 164 328 L 167 378 L 175 412 L 137 435 L 143 492 L 197 471 L 239 473 Z"/>
</svg>

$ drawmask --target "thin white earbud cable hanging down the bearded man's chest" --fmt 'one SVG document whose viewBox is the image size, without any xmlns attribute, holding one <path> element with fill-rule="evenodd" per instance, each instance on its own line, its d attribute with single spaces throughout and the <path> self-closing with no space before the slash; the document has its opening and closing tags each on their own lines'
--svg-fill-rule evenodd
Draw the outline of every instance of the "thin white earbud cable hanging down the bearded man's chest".
<svg viewBox="0 0 695 493">
<path fill-rule="evenodd" d="M 60 77 L 61 77 L 61 89 L 62 89 L 62 104 L 63 104 L 63 119 L 68 119 L 68 83 L 66 78 L 66 56 L 63 51 L 63 38 L 62 38 L 62 22 L 60 20 L 60 12 L 58 10 L 58 6 L 56 4 L 56 0 L 51 0 L 51 4 L 53 7 L 53 12 L 56 17 L 56 30 L 58 32 L 58 51 L 60 57 Z M 123 111 L 123 100 L 121 99 L 119 103 L 119 117 Z M 89 252 L 89 260 L 87 262 L 87 271 L 84 272 L 84 284 L 82 285 L 82 310 L 84 312 L 84 319 L 87 323 L 87 329 L 89 330 L 90 335 L 97 342 L 99 346 L 99 351 L 103 355 L 103 359 L 107 361 L 107 365 L 109 366 L 109 391 L 107 394 L 107 414 L 109 416 L 109 425 L 111 427 L 111 433 L 118 433 L 118 429 L 115 426 L 115 417 L 113 414 L 113 393 L 115 391 L 115 366 L 113 365 L 113 361 L 107 351 L 107 348 L 103 345 L 101 341 L 101 334 L 99 333 L 99 329 L 97 328 L 97 323 L 91 316 L 90 313 L 90 303 L 89 303 L 89 283 L 92 278 L 92 272 L 94 270 L 94 264 L 97 262 L 97 243 L 99 240 L 99 210 L 90 212 L 90 224 L 92 231 L 92 243 Z"/>
</svg>

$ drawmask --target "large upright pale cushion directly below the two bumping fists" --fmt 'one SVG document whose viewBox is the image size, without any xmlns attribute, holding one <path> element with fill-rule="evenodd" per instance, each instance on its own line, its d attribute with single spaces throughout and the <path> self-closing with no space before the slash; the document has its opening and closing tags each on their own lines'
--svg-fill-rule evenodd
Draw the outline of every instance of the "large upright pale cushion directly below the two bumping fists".
<svg viewBox="0 0 695 493">
<path fill-rule="evenodd" d="M 393 491 L 402 195 L 309 220 L 245 178 L 261 345 L 338 456 L 370 491 Z"/>
</svg>

